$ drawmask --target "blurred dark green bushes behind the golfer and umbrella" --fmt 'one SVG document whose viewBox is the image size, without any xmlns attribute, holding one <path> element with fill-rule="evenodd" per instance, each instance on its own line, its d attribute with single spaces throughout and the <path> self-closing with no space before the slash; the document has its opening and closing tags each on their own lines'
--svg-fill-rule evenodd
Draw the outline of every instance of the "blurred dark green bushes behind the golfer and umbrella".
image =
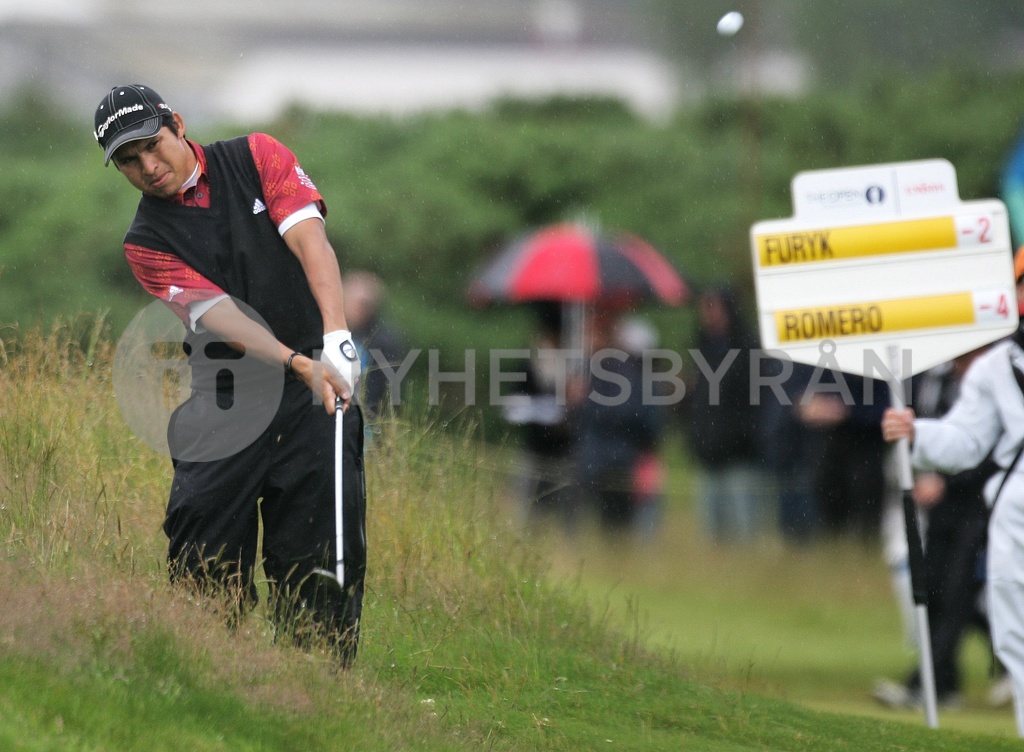
<svg viewBox="0 0 1024 752">
<path fill-rule="evenodd" d="M 293 110 L 195 135 L 261 129 L 288 143 L 327 197 L 342 266 L 380 273 L 410 341 L 453 353 L 457 367 L 463 347 L 525 341 L 524 317 L 481 317 L 464 298 L 473 270 L 524 229 L 586 215 L 646 237 L 691 280 L 749 285 L 748 228 L 791 213 L 798 171 L 944 157 L 965 199 L 996 196 L 1021 83 L 880 77 L 852 93 L 709 99 L 668 124 L 601 99 L 404 119 Z M 136 197 L 101 169 L 86 128 L 26 97 L 0 113 L 5 132 L 20 134 L 0 145 L 0 322 L 109 309 L 117 334 L 147 302 L 120 252 Z M 494 326 L 481 333 L 481 321 Z M 658 321 L 679 330 L 685 320 Z"/>
</svg>

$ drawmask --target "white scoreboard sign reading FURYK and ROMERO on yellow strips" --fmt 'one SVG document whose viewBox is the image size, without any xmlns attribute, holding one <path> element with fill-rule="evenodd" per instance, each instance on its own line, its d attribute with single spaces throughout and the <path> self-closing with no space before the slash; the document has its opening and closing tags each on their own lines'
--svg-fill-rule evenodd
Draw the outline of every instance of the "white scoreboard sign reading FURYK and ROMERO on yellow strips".
<svg viewBox="0 0 1024 752">
<path fill-rule="evenodd" d="M 949 162 L 802 172 L 793 204 L 751 228 L 765 349 L 866 374 L 895 345 L 920 373 L 1017 328 L 1007 209 Z"/>
</svg>

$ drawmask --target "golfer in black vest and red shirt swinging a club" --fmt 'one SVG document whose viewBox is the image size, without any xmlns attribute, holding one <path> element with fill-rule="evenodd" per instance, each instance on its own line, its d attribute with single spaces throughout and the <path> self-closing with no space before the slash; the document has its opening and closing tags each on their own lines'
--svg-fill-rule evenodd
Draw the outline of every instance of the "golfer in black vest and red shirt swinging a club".
<svg viewBox="0 0 1024 752">
<path fill-rule="evenodd" d="M 125 237 L 128 263 L 185 325 L 193 391 L 168 427 L 171 578 L 251 607 L 262 520 L 279 627 L 307 615 L 312 629 L 295 633 L 323 633 L 347 665 L 366 572 L 362 419 L 351 402 L 359 363 L 324 199 L 272 137 L 202 147 L 148 86 L 111 89 L 94 135 L 104 164 L 142 194 Z M 253 394 L 269 410 L 253 409 Z M 317 574 L 334 571 L 338 553 L 336 400 L 346 413 L 343 587 Z M 256 438 L 239 440 L 253 420 L 265 424 Z"/>
</svg>

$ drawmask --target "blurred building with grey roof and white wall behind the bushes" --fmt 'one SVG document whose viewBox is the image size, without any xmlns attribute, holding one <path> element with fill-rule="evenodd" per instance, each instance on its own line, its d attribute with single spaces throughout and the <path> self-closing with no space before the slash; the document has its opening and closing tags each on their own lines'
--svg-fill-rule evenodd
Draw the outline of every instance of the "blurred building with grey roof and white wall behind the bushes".
<svg viewBox="0 0 1024 752">
<path fill-rule="evenodd" d="M 0 0 L 0 99 L 84 114 L 142 81 L 196 120 L 290 103 L 407 114 L 501 96 L 620 97 L 658 118 L 688 92 L 631 0 Z"/>
</svg>

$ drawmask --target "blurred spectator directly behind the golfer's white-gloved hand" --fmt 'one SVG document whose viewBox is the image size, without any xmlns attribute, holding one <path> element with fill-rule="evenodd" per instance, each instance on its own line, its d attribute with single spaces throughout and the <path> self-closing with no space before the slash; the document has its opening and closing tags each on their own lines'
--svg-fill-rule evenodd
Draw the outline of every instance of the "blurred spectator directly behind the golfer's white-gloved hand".
<svg viewBox="0 0 1024 752">
<path fill-rule="evenodd" d="M 386 402 L 396 405 L 398 394 L 391 393 L 388 378 L 380 364 L 397 370 L 407 348 L 398 331 L 383 318 L 384 284 L 371 271 L 345 275 L 345 319 L 362 361 L 362 410 L 375 417 Z M 398 385 L 395 384 L 395 388 Z"/>
</svg>

